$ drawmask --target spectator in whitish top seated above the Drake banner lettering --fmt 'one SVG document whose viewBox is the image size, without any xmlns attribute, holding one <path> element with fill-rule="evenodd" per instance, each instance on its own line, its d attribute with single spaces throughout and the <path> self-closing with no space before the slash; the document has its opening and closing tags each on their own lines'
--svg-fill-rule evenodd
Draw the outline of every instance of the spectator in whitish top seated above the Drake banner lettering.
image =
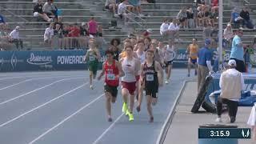
<svg viewBox="0 0 256 144">
<path fill-rule="evenodd" d="M 53 48 L 53 38 L 54 38 L 54 23 L 50 23 L 50 26 L 46 28 L 45 34 L 44 34 L 44 42 L 46 46 L 50 46 L 50 48 Z"/>
</svg>

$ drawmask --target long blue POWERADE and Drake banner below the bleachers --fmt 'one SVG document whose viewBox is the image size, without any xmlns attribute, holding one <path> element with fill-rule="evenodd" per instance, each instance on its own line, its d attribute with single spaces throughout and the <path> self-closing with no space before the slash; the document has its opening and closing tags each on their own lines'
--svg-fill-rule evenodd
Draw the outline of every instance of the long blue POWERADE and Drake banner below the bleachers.
<svg viewBox="0 0 256 144">
<path fill-rule="evenodd" d="M 86 50 L 46 50 L 46 51 L 0 51 L 0 71 L 34 71 L 34 70 L 86 70 L 83 61 Z M 101 51 L 99 69 L 106 60 Z M 185 68 L 189 56 L 185 49 L 178 50 L 174 58 L 174 67 Z M 217 52 L 214 51 L 214 59 Z M 227 54 L 226 58 L 229 58 Z"/>
</svg>

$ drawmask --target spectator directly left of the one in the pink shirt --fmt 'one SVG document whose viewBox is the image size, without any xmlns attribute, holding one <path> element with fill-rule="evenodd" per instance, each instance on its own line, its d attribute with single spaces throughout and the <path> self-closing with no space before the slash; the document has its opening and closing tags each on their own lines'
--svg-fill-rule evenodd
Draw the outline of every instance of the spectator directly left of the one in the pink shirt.
<svg viewBox="0 0 256 144">
<path fill-rule="evenodd" d="M 89 42 L 89 31 L 88 31 L 88 25 L 86 22 L 82 22 L 82 26 L 80 26 L 80 46 L 82 48 L 88 47 L 88 42 Z"/>
</svg>

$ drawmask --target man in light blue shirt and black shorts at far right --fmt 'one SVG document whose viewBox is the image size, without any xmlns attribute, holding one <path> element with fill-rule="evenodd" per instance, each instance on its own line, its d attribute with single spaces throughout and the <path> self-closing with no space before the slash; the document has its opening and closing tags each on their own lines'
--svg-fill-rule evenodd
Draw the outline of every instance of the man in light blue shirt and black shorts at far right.
<svg viewBox="0 0 256 144">
<path fill-rule="evenodd" d="M 242 29 L 239 29 L 236 31 L 236 34 L 232 41 L 232 48 L 231 48 L 231 54 L 230 59 L 234 59 L 237 63 L 236 70 L 238 70 L 241 73 L 246 72 L 246 66 L 244 62 L 244 50 L 242 45 Z"/>
</svg>

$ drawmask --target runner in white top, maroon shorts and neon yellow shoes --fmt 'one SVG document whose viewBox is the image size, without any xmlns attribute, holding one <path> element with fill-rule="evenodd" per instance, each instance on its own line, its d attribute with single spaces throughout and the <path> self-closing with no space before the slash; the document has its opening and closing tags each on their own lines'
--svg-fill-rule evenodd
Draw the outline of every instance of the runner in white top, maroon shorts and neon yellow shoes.
<svg viewBox="0 0 256 144">
<path fill-rule="evenodd" d="M 134 121 L 133 109 L 134 109 L 134 92 L 136 90 L 136 75 L 140 69 L 140 64 L 137 58 L 134 58 L 134 51 L 132 46 L 126 46 L 126 57 L 121 58 L 122 70 L 125 72 L 125 76 L 122 77 L 122 98 L 123 106 L 122 112 L 129 116 L 129 121 Z M 128 96 L 130 95 L 130 107 L 128 109 Z"/>
</svg>

